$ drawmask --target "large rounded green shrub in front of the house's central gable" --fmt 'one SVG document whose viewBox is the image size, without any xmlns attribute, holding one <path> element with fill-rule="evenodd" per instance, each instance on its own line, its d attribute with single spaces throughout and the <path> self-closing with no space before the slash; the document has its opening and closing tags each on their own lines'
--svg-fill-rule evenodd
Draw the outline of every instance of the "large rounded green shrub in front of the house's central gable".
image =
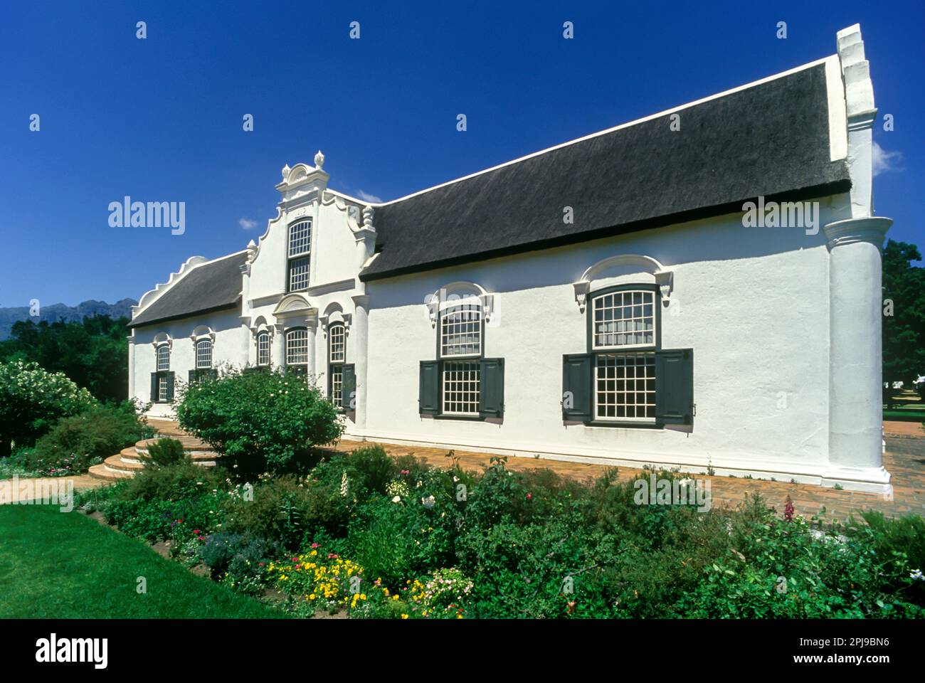
<svg viewBox="0 0 925 683">
<path fill-rule="evenodd" d="M 337 409 L 307 379 L 285 372 L 230 370 L 189 385 L 177 405 L 182 428 L 242 470 L 282 470 L 339 439 Z"/>
</svg>

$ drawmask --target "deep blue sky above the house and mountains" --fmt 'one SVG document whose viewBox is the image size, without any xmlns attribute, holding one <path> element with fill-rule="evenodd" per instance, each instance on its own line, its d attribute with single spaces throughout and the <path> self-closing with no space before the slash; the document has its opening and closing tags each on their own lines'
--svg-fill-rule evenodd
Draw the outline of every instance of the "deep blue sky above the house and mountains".
<svg viewBox="0 0 925 683">
<path fill-rule="evenodd" d="M 279 169 L 318 148 L 331 188 L 393 199 L 832 55 L 857 22 L 895 120 L 875 130 L 877 211 L 925 247 L 923 7 L 5 1 L 0 306 L 137 299 L 190 255 L 239 251 L 276 215 Z M 186 233 L 110 228 L 126 194 L 186 202 Z"/>
</svg>

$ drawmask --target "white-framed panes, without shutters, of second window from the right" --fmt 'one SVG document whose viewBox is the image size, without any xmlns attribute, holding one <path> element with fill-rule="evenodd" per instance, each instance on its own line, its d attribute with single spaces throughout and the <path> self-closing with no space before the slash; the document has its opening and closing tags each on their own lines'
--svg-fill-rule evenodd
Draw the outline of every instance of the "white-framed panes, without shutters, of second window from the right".
<svg viewBox="0 0 925 683">
<path fill-rule="evenodd" d="M 482 307 L 451 304 L 440 311 L 441 412 L 479 415 L 482 355 Z M 471 359 L 471 360 L 469 360 Z"/>
</svg>

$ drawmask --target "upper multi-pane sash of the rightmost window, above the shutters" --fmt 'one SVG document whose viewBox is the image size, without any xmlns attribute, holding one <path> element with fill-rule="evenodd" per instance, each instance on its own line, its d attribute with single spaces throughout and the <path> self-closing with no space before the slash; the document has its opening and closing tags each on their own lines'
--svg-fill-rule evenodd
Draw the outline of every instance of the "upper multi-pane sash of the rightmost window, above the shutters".
<svg viewBox="0 0 925 683">
<path fill-rule="evenodd" d="M 611 292 L 593 302 L 594 348 L 655 344 L 655 292 Z"/>
</svg>

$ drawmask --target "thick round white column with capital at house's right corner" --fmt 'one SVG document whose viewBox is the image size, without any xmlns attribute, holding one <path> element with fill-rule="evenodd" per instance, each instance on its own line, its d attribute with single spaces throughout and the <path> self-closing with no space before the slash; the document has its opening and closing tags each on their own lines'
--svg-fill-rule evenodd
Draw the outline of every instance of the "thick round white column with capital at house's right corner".
<svg viewBox="0 0 925 683">
<path fill-rule="evenodd" d="M 882 463 L 883 237 L 893 221 L 825 226 L 829 238 L 829 470 L 823 485 L 888 491 Z"/>
</svg>

